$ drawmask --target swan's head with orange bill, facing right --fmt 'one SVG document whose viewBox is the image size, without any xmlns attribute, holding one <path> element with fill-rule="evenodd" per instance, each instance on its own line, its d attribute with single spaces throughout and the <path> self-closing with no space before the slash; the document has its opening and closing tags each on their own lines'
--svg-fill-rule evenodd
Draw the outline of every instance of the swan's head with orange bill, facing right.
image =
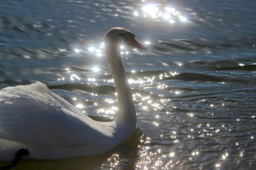
<svg viewBox="0 0 256 170">
<path fill-rule="evenodd" d="M 112 45 L 125 43 L 125 45 L 133 46 L 135 48 L 147 49 L 135 39 L 135 35 L 131 31 L 128 31 L 123 27 L 113 27 L 109 29 L 109 31 L 104 35 L 104 41 Z"/>
</svg>

